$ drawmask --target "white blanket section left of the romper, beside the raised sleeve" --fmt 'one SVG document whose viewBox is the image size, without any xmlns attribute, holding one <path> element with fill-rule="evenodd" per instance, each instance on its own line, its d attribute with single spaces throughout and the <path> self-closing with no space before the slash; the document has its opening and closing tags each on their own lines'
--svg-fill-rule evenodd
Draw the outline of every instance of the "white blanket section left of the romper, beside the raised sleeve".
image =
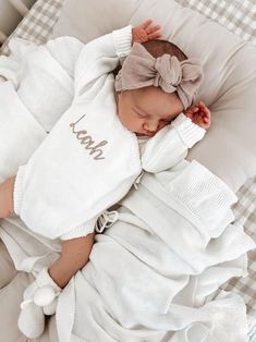
<svg viewBox="0 0 256 342">
<path fill-rule="evenodd" d="M 70 107 L 82 47 L 72 37 L 41 47 L 15 38 L 10 57 L 0 57 L 0 182 L 16 174 Z"/>
</svg>

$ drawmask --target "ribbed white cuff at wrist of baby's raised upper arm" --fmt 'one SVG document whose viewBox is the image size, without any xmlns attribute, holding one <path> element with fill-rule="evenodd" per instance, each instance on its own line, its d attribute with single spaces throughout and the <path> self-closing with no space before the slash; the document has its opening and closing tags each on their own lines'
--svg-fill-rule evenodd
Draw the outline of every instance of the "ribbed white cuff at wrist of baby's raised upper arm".
<svg viewBox="0 0 256 342">
<path fill-rule="evenodd" d="M 117 54 L 122 58 L 129 54 L 132 46 L 132 25 L 112 32 Z"/>
</svg>

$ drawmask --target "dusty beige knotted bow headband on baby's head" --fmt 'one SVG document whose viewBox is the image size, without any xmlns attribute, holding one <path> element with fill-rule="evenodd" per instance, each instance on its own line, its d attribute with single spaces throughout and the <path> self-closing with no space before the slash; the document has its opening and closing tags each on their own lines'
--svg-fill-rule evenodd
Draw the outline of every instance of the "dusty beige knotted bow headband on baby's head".
<svg viewBox="0 0 256 342">
<path fill-rule="evenodd" d="M 202 63 L 197 59 L 182 62 L 164 53 L 154 58 L 141 44 L 134 42 L 131 52 L 115 77 L 115 90 L 131 90 L 148 86 L 178 93 L 184 109 L 188 108 L 203 81 Z"/>
</svg>

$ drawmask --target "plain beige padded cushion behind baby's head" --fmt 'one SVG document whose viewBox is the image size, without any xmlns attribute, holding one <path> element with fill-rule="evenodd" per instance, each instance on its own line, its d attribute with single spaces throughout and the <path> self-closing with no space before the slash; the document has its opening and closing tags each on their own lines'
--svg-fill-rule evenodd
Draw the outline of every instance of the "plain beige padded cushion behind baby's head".
<svg viewBox="0 0 256 342">
<path fill-rule="evenodd" d="M 171 0 L 66 0 L 53 36 L 74 35 L 86 42 L 130 19 L 133 25 L 153 19 L 161 24 L 164 39 L 203 60 L 205 80 L 197 98 L 209 106 L 212 124 L 187 159 L 196 159 L 236 192 L 256 174 L 256 48 Z"/>
</svg>

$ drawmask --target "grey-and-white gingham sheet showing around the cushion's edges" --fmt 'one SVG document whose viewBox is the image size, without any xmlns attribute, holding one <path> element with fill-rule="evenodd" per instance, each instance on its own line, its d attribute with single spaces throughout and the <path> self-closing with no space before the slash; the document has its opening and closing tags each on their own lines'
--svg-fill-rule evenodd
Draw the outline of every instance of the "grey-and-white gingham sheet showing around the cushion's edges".
<svg viewBox="0 0 256 342">
<path fill-rule="evenodd" d="M 256 0 L 175 1 L 218 22 L 256 46 Z M 45 42 L 58 20 L 63 2 L 64 0 L 37 0 L 11 37 L 22 37 L 37 44 Z M 0 52 L 8 53 L 9 39 Z M 233 208 L 235 222 L 244 225 L 246 233 L 256 241 L 256 178 L 248 180 L 236 195 L 239 201 Z M 233 278 L 221 289 L 239 293 L 243 297 L 252 327 L 248 338 L 251 342 L 256 342 L 256 325 L 254 326 L 256 323 L 256 251 L 248 253 L 248 276 Z"/>
</svg>

